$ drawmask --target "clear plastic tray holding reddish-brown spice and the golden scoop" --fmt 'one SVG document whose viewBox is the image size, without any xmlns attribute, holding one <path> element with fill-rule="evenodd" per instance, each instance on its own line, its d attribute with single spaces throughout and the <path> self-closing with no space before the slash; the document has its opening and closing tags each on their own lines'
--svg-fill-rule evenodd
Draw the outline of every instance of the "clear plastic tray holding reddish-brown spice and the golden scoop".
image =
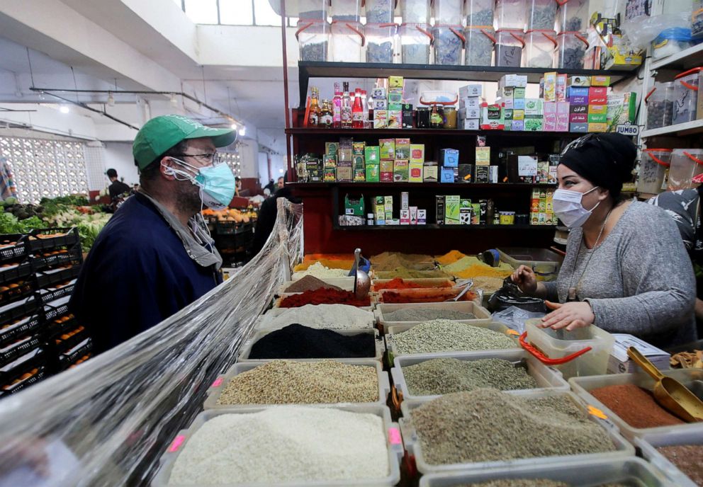
<svg viewBox="0 0 703 487">
<path fill-rule="evenodd" d="M 662 373 L 666 377 L 673 377 L 689 389 L 697 384 L 703 386 L 703 369 L 671 369 L 664 370 Z M 684 425 L 660 426 L 658 428 L 633 428 L 590 394 L 590 391 L 599 387 L 616 386 L 622 384 L 635 384 L 643 389 L 652 391 L 654 389 L 654 379 L 649 377 L 649 375 L 644 373 L 641 369 L 638 369 L 638 371 L 634 372 L 634 374 L 608 374 L 594 375 L 590 377 L 572 377 L 568 382 L 575 394 L 577 394 L 586 403 L 603 411 L 605 415 L 618 426 L 622 432 L 622 435 L 629 440 L 634 437 L 641 437 L 647 434 L 666 434 L 686 430 L 697 431 L 698 434 L 703 437 L 703 423 L 687 423 Z"/>
</svg>

